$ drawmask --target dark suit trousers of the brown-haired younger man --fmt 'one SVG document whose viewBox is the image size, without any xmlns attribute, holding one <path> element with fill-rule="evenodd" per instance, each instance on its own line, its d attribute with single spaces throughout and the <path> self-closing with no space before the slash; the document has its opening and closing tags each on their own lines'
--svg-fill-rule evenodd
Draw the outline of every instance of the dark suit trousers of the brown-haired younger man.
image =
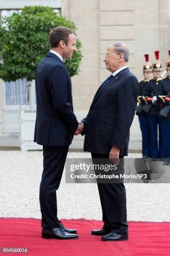
<svg viewBox="0 0 170 256">
<path fill-rule="evenodd" d="M 43 172 L 40 183 L 42 228 L 58 228 L 56 190 L 59 188 L 69 146 L 43 146 Z"/>
</svg>

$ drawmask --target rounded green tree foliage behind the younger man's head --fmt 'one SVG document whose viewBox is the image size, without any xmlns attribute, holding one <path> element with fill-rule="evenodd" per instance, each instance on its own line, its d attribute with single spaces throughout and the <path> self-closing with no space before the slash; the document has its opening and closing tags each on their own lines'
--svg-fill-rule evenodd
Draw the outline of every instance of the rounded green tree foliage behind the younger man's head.
<svg viewBox="0 0 170 256">
<path fill-rule="evenodd" d="M 2 18 L 0 28 L 0 78 L 15 81 L 35 79 L 38 62 L 49 51 L 49 32 L 52 28 L 66 26 L 76 30 L 75 24 L 61 17 L 50 7 L 26 6 L 20 13 Z M 81 42 L 77 39 L 77 51 L 65 64 L 74 76 L 79 72 L 82 59 Z"/>
</svg>

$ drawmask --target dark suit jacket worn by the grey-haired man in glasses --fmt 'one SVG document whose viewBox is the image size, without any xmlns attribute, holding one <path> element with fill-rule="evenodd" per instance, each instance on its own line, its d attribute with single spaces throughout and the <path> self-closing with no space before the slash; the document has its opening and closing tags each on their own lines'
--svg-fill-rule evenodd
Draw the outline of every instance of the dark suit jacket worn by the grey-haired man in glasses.
<svg viewBox="0 0 170 256">
<path fill-rule="evenodd" d="M 128 155 L 129 132 L 139 92 L 138 79 L 129 68 L 120 71 L 97 90 L 87 117 L 84 150 L 109 154 L 112 146 Z M 100 90 L 101 88 L 101 90 Z M 83 134 L 82 134 L 83 135 Z"/>
</svg>

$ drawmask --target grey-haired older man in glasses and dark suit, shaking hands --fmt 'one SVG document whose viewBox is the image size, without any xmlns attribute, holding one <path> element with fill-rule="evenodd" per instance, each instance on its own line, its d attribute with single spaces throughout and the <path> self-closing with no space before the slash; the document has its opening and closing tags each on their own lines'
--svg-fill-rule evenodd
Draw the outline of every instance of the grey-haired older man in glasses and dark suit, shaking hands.
<svg viewBox="0 0 170 256">
<path fill-rule="evenodd" d="M 97 90 L 89 113 L 82 120 L 85 129 L 84 150 L 91 152 L 95 164 L 95 159 L 102 158 L 118 164 L 119 158 L 128 155 L 130 126 L 139 92 L 138 79 L 127 66 L 128 58 L 129 51 L 125 44 L 116 42 L 107 47 L 104 62 L 112 74 Z M 104 225 L 101 230 L 92 230 L 92 234 L 102 236 L 104 241 L 128 240 L 124 184 L 97 185 Z"/>
</svg>

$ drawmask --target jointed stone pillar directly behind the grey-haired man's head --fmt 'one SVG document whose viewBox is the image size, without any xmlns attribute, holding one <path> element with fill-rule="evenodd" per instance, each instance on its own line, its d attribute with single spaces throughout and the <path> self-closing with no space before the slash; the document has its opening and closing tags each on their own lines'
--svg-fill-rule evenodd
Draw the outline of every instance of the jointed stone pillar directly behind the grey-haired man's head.
<svg viewBox="0 0 170 256">
<path fill-rule="evenodd" d="M 135 68 L 135 0 L 100 0 L 100 82 L 110 75 L 105 68 L 103 57 L 108 44 L 120 41 L 130 50 L 129 67 Z"/>
</svg>

